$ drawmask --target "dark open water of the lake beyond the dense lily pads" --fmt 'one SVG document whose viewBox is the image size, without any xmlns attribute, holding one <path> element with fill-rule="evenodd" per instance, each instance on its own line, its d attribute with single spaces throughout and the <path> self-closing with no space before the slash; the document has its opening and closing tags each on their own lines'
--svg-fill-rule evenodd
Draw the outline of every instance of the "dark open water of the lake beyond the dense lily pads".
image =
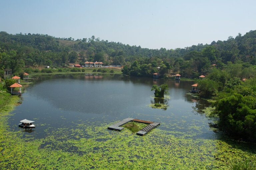
<svg viewBox="0 0 256 170">
<path fill-rule="evenodd" d="M 217 137 L 209 129 L 211 120 L 195 111 L 208 104 L 186 95 L 193 81 L 107 74 L 47 75 L 34 81 L 22 94 L 22 104 L 13 111 L 15 114 L 9 120 L 11 130 L 23 130 L 17 126 L 20 120 L 34 120 L 36 128 L 24 130 L 24 134 L 31 132 L 30 135 L 43 138 L 58 128 L 68 130 L 86 120 L 91 125 L 111 124 L 130 117 L 160 122 L 158 128 L 177 137 Z M 163 83 L 168 84 L 170 95 L 165 100 L 156 100 L 152 85 Z M 165 103 L 168 108 L 153 109 L 149 104 L 154 103 Z"/>
</svg>

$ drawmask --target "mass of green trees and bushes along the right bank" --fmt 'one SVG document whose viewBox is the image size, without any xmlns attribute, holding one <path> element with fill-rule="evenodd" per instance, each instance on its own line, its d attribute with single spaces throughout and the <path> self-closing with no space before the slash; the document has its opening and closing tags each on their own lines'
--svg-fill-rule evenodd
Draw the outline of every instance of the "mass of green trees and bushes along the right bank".
<svg viewBox="0 0 256 170">
<path fill-rule="evenodd" d="M 201 97 L 216 100 L 220 129 L 236 138 L 256 141 L 256 67 L 247 69 L 244 64 L 230 62 L 222 70 L 212 68 L 197 83 Z"/>
</svg>

